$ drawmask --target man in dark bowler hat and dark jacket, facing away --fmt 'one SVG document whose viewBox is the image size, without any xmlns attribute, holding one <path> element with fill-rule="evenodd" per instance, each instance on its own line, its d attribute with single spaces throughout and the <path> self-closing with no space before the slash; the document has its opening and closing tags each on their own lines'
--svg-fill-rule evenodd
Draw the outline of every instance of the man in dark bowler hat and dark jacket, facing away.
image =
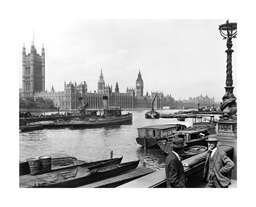
<svg viewBox="0 0 256 207">
<path fill-rule="evenodd" d="M 165 160 L 165 174 L 167 181 L 167 188 L 186 188 L 187 181 L 184 173 L 184 167 L 180 161 L 180 154 L 184 152 L 184 144 L 182 138 L 173 140 L 173 151 L 167 156 Z"/>
</svg>

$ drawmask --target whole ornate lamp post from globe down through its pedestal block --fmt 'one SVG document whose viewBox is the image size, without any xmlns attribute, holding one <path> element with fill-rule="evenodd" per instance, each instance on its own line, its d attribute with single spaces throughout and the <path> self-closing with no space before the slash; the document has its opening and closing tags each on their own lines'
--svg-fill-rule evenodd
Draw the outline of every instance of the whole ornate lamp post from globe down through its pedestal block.
<svg viewBox="0 0 256 207">
<path fill-rule="evenodd" d="M 226 77 L 226 93 L 222 97 L 223 102 L 221 103 L 220 109 L 222 115 L 219 120 L 218 134 L 220 135 L 231 135 L 236 136 L 237 131 L 237 104 L 236 97 L 233 94 L 233 79 L 232 79 L 232 39 L 236 38 L 237 34 L 237 23 L 231 23 L 229 20 L 226 23 L 219 26 L 220 34 L 223 39 L 227 39 L 227 77 Z"/>
</svg>

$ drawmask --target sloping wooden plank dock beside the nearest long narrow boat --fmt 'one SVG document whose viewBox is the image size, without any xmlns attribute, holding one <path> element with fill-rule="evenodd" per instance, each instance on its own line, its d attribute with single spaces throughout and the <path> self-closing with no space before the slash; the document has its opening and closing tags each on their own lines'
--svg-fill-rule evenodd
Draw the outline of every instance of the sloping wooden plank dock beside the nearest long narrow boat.
<svg viewBox="0 0 256 207">
<path fill-rule="evenodd" d="M 111 178 L 96 181 L 95 183 L 80 186 L 79 188 L 114 188 L 119 185 L 123 185 L 129 181 L 148 175 L 149 173 L 155 172 L 156 170 L 150 168 L 138 167 L 134 170 L 122 173 Z"/>
</svg>

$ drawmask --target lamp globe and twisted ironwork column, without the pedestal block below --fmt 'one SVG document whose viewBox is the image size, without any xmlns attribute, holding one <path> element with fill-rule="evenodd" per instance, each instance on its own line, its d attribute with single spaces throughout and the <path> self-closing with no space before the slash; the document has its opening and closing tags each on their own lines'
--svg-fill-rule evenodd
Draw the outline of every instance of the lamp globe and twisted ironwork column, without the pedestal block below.
<svg viewBox="0 0 256 207">
<path fill-rule="evenodd" d="M 223 102 L 220 105 L 223 120 L 236 120 L 237 104 L 236 97 L 233 94 L 233 79 L 232 79 L 232 39 L 237 35 L 237 23 L 231 23 L 229 20 L 219 26 L 220 34 L 223 39 L 227 39 L 227 77 L 226 77 L 226 93 L 222 97 Z"/>
</svg>

